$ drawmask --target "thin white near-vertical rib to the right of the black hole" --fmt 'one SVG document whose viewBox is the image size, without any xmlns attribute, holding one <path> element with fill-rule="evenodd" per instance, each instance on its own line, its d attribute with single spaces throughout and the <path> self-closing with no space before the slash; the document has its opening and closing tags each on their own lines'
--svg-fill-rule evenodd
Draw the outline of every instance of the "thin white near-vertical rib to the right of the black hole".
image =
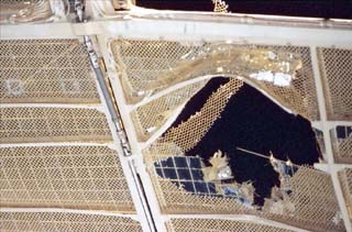
<svg viewBox="0 0 352 232">
<path fill-rule="evenodd" d="M 318 64 L 318 54 L 317 54 L 317 46 L 310 46 L 310 54 L 311 54 L 311 63 L 317 89 L 317 98 L 318 98 L 318 107 L 319 107 L 319 114 L 321 119 L 321 126 L 323 132 L 323 142 L 326 145 L 326 154 L 328 158 L 328 170 L 331 175 L 333 189 L 339 202 L 339 207 L 342 213 L 342 219 L 344 222 L 344 227 L 346 232 L 352 232 L 352 225 L 349 217 L 349 212 L 346 209 L 346 205 L 343 198 L 343 192 L 341 189 L 341 184 L 339 180 L 338 172 L 339 169 L 334 166 L 334 158 L 333 158 L 333 151 L 331 144 L 331 136 L 330 136 L 330 128 L 327 123 L 327 109 L 326 109 L 326 101 L 323 96 L 323 87 L 321 82 L 320 71 L 319 71 L 319 64 Z"/>
</svg>

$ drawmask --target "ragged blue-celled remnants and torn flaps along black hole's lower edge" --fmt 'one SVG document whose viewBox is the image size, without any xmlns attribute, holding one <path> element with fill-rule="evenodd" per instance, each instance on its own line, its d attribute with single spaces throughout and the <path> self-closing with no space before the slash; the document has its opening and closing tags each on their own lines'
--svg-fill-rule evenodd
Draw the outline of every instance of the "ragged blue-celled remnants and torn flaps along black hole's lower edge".
<svg viewBox="0 0 352 232">
<path fill-rule="evenodd" d="M 232 176 L 228 157 L 218 151 L 206 166 L 199 156 L 170 156 L 154 163 L 157 176 L 169 179 L 179 189 L 196 196 L 220 197 L 235 200 L 248 209 L 262 210 L 254 203 L 254 187 L 251 181 L 239 184 Z M 279 174 L 280 188 L 272 189 L 272 197 L 265 201 L 265 210 L 279 214 L 294 214 L 295 206 L 289 199 L 290 177 L 297 170 L 288 159 L 282 162 L 271 155 L 273 168 Z"/>
</svg>

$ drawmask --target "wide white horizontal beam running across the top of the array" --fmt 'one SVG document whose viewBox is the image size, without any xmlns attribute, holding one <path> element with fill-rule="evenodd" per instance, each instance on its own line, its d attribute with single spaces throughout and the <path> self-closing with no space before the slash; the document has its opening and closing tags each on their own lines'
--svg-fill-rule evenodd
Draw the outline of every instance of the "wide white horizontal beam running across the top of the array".
<svg viewBox="0 0 352 232">
<path fill-rule="evenodd" d="M 180 15 L 173 12 L 175 16 Z M 158 18 L 157 14 L 161 14 Z M 237 19 L 235 16 L 232 16 Z M 299 27 L 283 25 L 244 24 L 231 15 L 195 14 L 193 18 L 167 18 L 165 13 L 91 21 L 87 23 L 42 23 L 1 25 L 1 40 L 79 38 L 81 35 L 109 34 L 110 36 L 170 41 L 224 41 L 233 43 L 275 45 L 331 45 L 351 48 L 352 30 L 336 27 Z"/>
</svg>

